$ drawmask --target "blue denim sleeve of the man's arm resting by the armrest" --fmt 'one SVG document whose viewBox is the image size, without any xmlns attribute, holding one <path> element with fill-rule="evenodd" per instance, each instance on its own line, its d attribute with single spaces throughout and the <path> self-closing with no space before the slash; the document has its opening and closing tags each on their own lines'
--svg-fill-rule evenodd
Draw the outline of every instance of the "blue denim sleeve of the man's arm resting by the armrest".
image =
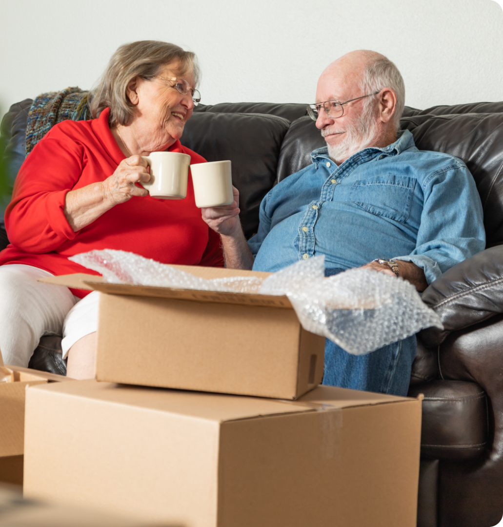
<svg viewBox="0 0 503 527">
<path fill-rule="evenodd" d="M 424 205 L 416 249 L 394 259 L 411 261 L 428 284 L 486 246 L 482 203 L 474 178 L 459 162 L 423 183 Z"/>
</svg>

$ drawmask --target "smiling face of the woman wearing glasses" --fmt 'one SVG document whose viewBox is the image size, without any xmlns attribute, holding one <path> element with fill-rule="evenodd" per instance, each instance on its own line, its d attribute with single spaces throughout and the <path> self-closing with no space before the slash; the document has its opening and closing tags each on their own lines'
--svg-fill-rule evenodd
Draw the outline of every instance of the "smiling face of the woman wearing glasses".
<svg viewBox="0 0 503 527">
<path fill-rule="evenodd" d="M 194 89 L 194 74 L 177 75 L 175 66 L 165 65 L 157 76 L 183 77 Z M 134 93 L 130 94 L 136 106 L 131 130 L 144 151 L 159 152 L 169 148 L 181 138 L 185 122 L 192 115 L 194 101 L 191 92 L 182 95 L 174 85 L 174 81 L 162 79 L 136 79 Z"/>
</svg>

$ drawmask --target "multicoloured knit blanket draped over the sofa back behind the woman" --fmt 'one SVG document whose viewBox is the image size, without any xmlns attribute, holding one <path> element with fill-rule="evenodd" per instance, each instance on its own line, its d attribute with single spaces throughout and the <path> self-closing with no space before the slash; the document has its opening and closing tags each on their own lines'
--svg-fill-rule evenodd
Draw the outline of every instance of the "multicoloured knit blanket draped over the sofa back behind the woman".
<svg viewBox="0 0 503 527">
<path fill-rule="evenodd" d="M 61 92 L 38 95 L 28 113 L 26 124 L 26 155 L 51 128 L 61 121 L 92 119 L 87 106 L 89 92 L 79 87 L 68 87 Z"/>
</svg>

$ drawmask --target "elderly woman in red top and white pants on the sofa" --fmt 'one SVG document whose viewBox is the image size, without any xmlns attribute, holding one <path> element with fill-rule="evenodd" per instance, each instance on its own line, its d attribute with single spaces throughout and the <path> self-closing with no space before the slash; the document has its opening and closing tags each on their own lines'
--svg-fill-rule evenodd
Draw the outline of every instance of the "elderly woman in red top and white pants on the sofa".
<svg viewBox="0 0 503 527">
<path fill-rule="evenodd" d="M 166 264 L 223 265 L 191 178 L 179 201 L 152 198 L 141 186 L 150 152 L 205 161 L 179 141 L 200 100 L 198 73 L 195 55 L 174 44 L 123 45 L 92 92 L 95 119 L 55 125 L 26 158 L 6 211 L 11 245 L 0 253 L 5 363 L 27 366 L 41 336 L 63 334 L 67 375 L 94 377 L 97 293 L 37 282 L 90 272 L 69 256 L 122 249 Z"/>
</svg>

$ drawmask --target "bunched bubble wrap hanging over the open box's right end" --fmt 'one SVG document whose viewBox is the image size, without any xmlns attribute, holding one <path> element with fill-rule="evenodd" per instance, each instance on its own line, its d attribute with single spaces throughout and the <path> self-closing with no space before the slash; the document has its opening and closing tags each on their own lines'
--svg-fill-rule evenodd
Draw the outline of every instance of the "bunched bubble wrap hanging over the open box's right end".
<svg viewBox="0 0 503 527">
<path fill-rule="evenodd" d="M 323 256 L 274 273 L 260 292 L 287 295 L 304 329 L 353 355 L 370 353 L 425 327 L 443 327 L 408 281 L 370 269 L 324 278 Z"/>
</svg>

